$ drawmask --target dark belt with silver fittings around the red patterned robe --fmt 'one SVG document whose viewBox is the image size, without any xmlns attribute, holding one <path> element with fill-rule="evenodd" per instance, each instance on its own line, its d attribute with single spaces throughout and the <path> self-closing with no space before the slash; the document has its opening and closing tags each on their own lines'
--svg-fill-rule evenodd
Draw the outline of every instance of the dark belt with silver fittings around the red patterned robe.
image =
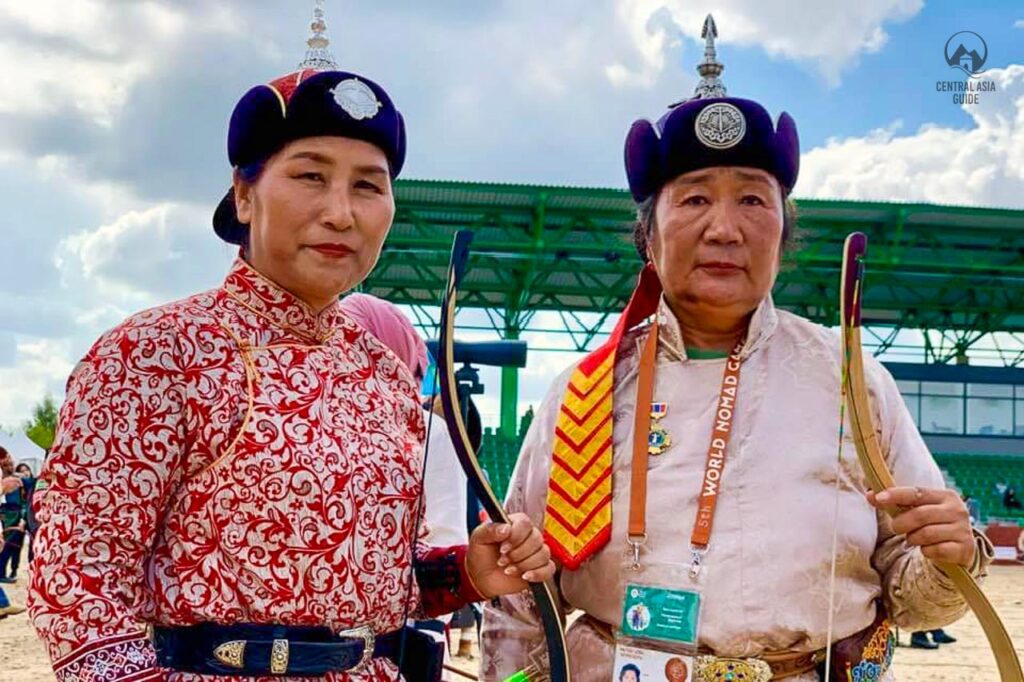
<svg viewBox="0 0 1024 682">
<path fill-rule="evenodd" d="M 401 630 L 375 636 L 369 626 L 219 625 L 153 628 L 160 666 L 199 675 L 317 677 L 355 671 L 372 658 L 396 658 Z"/>
</svg>

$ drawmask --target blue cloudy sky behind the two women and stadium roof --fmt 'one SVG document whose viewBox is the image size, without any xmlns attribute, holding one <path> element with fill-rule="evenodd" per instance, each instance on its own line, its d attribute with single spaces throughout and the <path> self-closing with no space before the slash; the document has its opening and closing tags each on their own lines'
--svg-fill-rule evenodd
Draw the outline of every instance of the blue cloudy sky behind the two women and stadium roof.
<svg viewBox="0 0 1024 682">
<path fill-rule="evenodd" d="M 227 119 L 302 58 L 312 0 L 0 0 L 0 425 L 132 312 L 217 286 Z M 796 119 L 798 198 L 1024 208 L 1024 5 L 981 0 L 327 0 L 342 68 L 409 124 L 409 178 L 624 187 L 630 123 L 692 92 Z M 973 31 L 995 92 L 953 102 Z M 572 357 L 537 354 L 536 404 Z M 497 418 L 497 375 L 481 401 Z M 0 436 L 2 442 L 3 436 Z"/>
</svg>

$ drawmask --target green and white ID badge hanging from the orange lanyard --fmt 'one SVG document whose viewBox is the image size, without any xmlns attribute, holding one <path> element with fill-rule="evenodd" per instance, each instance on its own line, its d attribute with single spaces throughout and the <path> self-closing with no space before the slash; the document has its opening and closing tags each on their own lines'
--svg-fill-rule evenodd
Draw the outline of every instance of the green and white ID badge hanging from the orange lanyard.
<svg viewBox="0 0 1024 682">
<path fill-rule="evenodd" d="M 615 633 L 614 680 L 690 682 L 700 625 L 700 593 L 631 583 Z M 632 677 L 631 677 L 632 676 Z"/>
</svg>

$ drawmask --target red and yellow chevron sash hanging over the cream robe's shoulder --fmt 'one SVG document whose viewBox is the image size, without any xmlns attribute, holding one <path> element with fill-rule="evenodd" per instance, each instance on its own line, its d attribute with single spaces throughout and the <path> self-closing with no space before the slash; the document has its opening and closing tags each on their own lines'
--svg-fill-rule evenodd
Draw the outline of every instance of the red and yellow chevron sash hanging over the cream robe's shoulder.
<svg viewBox="0 0 1024 682">
<path fill-rule="evenodd" d="M 572 372 L 555 424 L 544 539 L 575 569 L 611 537 L 611 413 L 615 351 L 623 335 L 657 309 L 662 284 L 648 264 L 615 329 Z"/>
</svg>

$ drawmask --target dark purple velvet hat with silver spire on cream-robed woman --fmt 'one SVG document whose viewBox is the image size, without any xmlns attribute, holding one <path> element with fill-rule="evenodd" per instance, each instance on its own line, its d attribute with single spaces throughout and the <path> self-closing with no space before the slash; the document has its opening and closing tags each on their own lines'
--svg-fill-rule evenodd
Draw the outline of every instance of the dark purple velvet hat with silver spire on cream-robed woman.
<svg viewBox="0 0 1024 682">
<path fill-rule="evenodd" d="M 774 175 L 788 195 L 800 172 L 797 124 L 784 112 L 772 123 L 764 106 L 726 96 L 719 80 L 715 22 L 708 15 L 701 36 L 705 59 L 694 96 L 673 104 L 657 123 L 636 121 L 626 136 L 626 174 L 641 203 L 669 180 L 701 168 L 749 166 Z"/>
</svg>

